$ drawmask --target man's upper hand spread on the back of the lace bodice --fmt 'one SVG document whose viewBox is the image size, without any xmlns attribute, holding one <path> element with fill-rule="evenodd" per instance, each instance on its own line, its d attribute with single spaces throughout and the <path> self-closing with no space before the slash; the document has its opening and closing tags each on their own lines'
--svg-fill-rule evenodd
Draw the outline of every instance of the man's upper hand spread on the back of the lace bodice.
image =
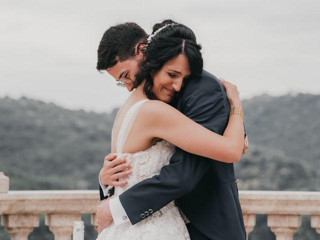
<svg viewBox="0 0 320 240">
<path fill-rule="evenodd" d="M 103 167 L 100 172 L 100 179 L 102 184 L 109 186 L 121 186 L 127 182 L 118 181 L 119 178 L 126 177 L 131 174 L 130 163 L 125 162 L 125 157 L 116 158 L 114 153 L 108 154 L 104 157 Z"/>
</svg>

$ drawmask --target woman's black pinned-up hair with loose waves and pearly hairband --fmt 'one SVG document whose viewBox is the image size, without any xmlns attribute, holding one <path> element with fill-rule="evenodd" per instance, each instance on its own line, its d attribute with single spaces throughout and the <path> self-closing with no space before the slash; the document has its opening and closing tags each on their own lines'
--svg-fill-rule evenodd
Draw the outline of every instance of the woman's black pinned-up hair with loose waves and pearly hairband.
<svg viewBox="0 0 320 240">
<path fill-rule="evenodd" d="M 143 91 L 149 99 L 156 99 L 152 92 L 153 81 L 151 74 L 160 70 L 163 64 L 173 57 L 181 53 L 186 55 L 190 68 L 190 77 L 199 76 L 202 72 L 201 45 L 196 43 L 195 35 L 189 27 L 167 19 L 161 23 L 154 24 L 152 34 L 160 27 L 171 23 L 175 24 L 161 29 L 147 44 L 144 51 L 146 59 L 135 75 L 135 87 L 145 80 Z"/>
</svg>

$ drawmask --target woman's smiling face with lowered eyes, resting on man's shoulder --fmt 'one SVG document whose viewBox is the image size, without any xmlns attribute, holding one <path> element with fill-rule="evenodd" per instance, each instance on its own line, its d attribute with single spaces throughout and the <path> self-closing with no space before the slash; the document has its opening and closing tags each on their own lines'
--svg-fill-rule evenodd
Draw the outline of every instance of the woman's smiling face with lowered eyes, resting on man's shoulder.
<svg viewBox="0 0 320 240">
<path fill-rule="evenodd" d="M 179 54 L 165 62 L 153 75 L 152 92 L 158 100 L 170 102 L 180 91 L 183 80 L 189 75 L 188 59 L 185 54 Z"/>
</svg>

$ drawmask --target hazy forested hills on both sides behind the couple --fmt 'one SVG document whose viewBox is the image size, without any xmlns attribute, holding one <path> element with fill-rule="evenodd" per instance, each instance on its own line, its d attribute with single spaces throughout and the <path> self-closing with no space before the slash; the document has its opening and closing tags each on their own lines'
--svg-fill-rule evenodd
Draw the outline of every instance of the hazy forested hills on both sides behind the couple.
<svg viewBox="0 0 320 240">
<path fill-rule="evenodd" d="M 320 95 L 261 95 L 243 108 L 250 148 L 235 164 L 239 188 L 320 190 Z M 10 189 L 97 189 L 115 112 L 0 98 L 0 171 Z"/>
</svg>

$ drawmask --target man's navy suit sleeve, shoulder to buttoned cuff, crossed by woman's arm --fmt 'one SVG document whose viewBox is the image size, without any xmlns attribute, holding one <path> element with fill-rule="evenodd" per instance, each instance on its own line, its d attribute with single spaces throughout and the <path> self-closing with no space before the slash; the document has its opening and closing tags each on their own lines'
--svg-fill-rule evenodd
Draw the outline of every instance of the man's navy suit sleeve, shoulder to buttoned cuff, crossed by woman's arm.
<svg viewBox="0 0 320 240">
<path fill-rule="evenodd" d="M 222 134 L 228 114 L 225 96 L 224 88 L 214 76 L 202 75 L 187 83 L 178 109 L 192 120 Z M 211 163 L 211 159 L 176 147 L 170 164 L 163 166 L 159 175 L 145 179 L 119 195 L 131 223 L 142 220 L 141 213 L 150 209 L 155 212 L 190 192 Z"/>
</svg>

